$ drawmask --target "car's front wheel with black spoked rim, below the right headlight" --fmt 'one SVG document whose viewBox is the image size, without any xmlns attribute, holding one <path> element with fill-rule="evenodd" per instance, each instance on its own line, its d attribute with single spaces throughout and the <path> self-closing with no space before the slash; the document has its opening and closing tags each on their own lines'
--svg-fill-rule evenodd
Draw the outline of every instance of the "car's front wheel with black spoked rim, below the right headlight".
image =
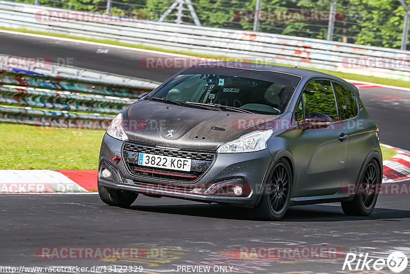
<svg viewBox="0 0 410 274">
<path fill-rule="evenodd" d="M 280 220 L 288 210 L 292 192 L 292 172 L 288 161 L 280 159 L 265 184 L 262 198 L 255 208 L 262 220 Z"/>
</svg>

